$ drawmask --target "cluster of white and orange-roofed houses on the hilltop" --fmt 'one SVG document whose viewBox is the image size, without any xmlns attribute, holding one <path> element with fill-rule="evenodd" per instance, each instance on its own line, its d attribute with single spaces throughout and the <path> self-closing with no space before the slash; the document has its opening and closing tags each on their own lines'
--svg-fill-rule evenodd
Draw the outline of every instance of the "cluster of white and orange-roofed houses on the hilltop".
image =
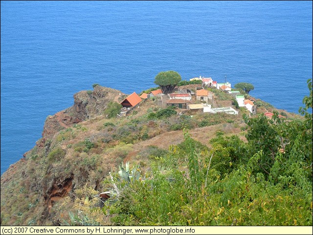
<svg viewBox="0 0 313 235">
<path fill-rule="evenodd" d="M 118 116 L 126 116 L 141 102 L 147 99 L 157 100 L 160 107 L 177 107 L 180 109 L 179 114 L 195 114 L 195 113 L 217 113 L 224 112 L 227 114 L 238 115 L 240 107 L 245 107 L 249 111 L 249 115 L 256 114 L 257 106 L 254 104 L 255 98 L 242 94 L 238 89 L 231 87 L 229 82 L 218 83 L 213 81 L 211 77 L 195 77 L 190 82 L 197 84 L 176 86 L 170 94 L 163 94 L 162 90 L 156 88 L 148 93 L 141 92 L 140 96 L 133 92 L 126 97 L 120 104 L 122 109 Z M 186 82 L 188 83 L 188 82 Z M 215 92 L 222 91 L 232 96 L 232 106 L 223 107 L 215 102 Z M 264 112 L 264 115 L 271 118 L 273 113 Z M 280 117 L 283 117 L 280 115 Z"/>
</svg>

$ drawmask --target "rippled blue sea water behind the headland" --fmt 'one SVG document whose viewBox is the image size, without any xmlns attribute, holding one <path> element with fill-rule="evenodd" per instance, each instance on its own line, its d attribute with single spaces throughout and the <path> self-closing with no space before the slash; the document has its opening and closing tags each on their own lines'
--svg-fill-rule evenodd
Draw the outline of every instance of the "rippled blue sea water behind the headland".
<svg viewBox="0 0 313 235">
<path fill-rule="evenodd" d="M 298 113 L 312 78 L 312 1 L 1 1 L 1 174 L 73 94 L 201 75 Z"/>
</svg>

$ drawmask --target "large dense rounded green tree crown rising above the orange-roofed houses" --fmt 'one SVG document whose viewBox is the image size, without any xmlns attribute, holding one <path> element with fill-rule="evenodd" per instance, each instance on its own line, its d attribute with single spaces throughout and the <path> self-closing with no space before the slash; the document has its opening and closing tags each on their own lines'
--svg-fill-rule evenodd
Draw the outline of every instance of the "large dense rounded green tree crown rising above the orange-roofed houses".
<svg viewBox="0 0 313 235">
<path fill-rule="evenodd" d="M 160 86 L 163 94 L 171 93 L 179 81 L 181 81 L 179 73 L 173 70 L 159 72 L 155 77 L 155 84 Z"/>
</svg>

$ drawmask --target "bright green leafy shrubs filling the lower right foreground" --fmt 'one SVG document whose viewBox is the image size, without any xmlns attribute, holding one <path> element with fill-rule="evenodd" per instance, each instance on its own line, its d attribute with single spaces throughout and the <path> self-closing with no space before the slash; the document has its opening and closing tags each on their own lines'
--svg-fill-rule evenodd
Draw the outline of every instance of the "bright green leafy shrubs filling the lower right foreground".
<svg viewBox="0 0 313 235">
<path fill-rule="evenodd" d="M 247 142 L 218 131 L 211 148 L 184 130 L 150 171 L 120 167 L 103 213 L 117 226 L 312 226 L 310 85 L 304 120 L 245 115 Z"/>
</svg>

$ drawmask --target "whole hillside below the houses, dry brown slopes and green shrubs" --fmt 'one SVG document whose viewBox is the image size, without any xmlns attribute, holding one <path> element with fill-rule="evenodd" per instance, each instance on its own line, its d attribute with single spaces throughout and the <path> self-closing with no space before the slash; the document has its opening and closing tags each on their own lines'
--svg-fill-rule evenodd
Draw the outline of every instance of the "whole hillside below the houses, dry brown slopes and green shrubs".
<svg viewBox="0 0 313 235">
<path fill-rule="evenodd" d="M 234 107 L 232 96 L 213 93 L 214 107 Z M 126 97 L 97 85 L 46 118 L 43 137 L 1 176 L 1 225 L 71 224 L 69 211 L 82 224 L 312 225 L 312 115 L 250 97 L 258 107 L 249 121 L 244 107 L 191 113 L 155 98 L 107 118 L 108 104 Z M 123 180 L 117 172 L 128 162 Z M 277 212 L 286 202 L 290 215 Z"/>
</svg>

